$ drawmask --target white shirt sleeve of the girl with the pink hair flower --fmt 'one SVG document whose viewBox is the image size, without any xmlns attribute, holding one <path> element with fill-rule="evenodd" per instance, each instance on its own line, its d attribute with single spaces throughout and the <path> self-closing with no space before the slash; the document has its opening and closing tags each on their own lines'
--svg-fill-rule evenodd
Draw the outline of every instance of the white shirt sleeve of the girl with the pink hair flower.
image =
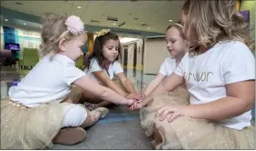
<svg viewBox="0 0 256 151">
<path fill-rule="evenodd" d="M 64 66 L 63 70 L 64 80 L 68 85 L 72 84 L 81 76 L 85 76 L 85 73 L 74 65 L 66 65 Z"/>
</svg>

